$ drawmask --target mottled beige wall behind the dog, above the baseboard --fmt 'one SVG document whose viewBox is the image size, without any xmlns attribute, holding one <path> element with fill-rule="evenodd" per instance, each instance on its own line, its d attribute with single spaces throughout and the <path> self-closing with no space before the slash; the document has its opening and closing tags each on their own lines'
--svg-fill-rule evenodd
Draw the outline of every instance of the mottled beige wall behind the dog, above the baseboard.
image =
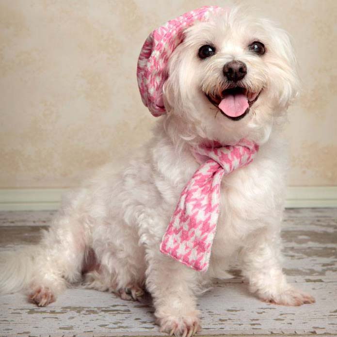
<svg viewBox="0 0 337 337">
<path fill-rule="evenodd" d="M 337 185 L 336 0 L 245 0 L 294 38 L 289 185 Z M 147 34 L 200 0 L 0 0 L 0 188 L 69 187 L 143 143 L 135 68 Z"/>
</svg>

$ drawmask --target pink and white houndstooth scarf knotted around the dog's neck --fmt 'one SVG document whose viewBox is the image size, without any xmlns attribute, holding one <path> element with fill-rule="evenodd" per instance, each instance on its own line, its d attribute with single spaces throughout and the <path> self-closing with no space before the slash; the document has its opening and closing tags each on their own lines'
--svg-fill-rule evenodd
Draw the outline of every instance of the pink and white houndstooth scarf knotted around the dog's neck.
<svg viewBox="0 0 337 337">
<path fill-rule="evenodd" d="M 195 150 L 195 157 L 203 163 L 180 194 L 160 244 L 161 253 L 197 271 L 207 271 L 219 218 L 221 179 L 249 164 L 257 150 L 258 145 L 247 140 Z"/>
</svg>

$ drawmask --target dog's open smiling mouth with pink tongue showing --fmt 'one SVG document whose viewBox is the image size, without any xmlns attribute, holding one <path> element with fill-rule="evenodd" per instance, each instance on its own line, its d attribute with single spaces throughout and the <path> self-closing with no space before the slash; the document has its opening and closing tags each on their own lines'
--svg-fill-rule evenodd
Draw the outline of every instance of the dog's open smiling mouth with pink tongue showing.
<svg viewBox="0 0 337 337">
<path fill-rule="evenodd" d="M 224 90 L 221 95 L 206 94 L 206 96 L 222 114 L 238 121 L 249 112 L 250 107 L 257 101 L 261 91 L 254 93 L 242 87 L 235 87 Z"/>
</svg>

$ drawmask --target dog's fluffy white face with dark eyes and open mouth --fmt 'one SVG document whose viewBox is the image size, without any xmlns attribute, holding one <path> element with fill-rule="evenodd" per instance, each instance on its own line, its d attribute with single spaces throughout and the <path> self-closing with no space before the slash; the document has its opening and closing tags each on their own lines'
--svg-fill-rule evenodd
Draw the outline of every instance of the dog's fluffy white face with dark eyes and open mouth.
<svg viewBox="0 0 337 337">
<path fill-rule="evenodd" d="M 200 137 L 263 142 L 297 87 L 288 35 L 233 9 L 185 31 L 169 61 L 164 100 Z"/>
</svg>

